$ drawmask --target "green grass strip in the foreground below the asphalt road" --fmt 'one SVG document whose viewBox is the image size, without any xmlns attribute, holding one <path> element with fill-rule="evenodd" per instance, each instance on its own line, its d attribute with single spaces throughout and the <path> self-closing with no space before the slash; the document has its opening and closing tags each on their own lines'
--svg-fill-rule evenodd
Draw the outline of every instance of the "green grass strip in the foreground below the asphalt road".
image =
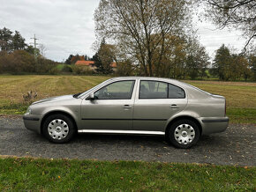
<svg viewBox="0 0 256 192">
<path fill-rule="evenodd" d="M 255 191 L 255 167 L 0 159 L 1 191 Z"/>
</svg>

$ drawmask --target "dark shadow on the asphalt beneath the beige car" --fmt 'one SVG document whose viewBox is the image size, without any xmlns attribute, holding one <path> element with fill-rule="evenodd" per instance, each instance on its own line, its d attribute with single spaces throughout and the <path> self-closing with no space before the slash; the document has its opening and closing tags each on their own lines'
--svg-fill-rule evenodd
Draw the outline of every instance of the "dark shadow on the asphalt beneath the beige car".
<svg viewBox="0 0 256 192">
<path fill-rule="evenodd" d="M 29 137 L 26 137 L 27 142 L 32 143 L 48 143 L 53 144 L 49 142 L 45 137 L 41 136 L 40 134 L 30 132 Z M 204 148 L 213 148 L 220 146 L 220 144 L 225 144 L 225 139 L 222 137 L 219 137 L 218 135 L 210 135 L 210 136 L 202 136 L 200 137 L 200 140 L 198 144 L 196 144 L 197 147 L 204 147 Z M 79 144 L 89 144 L 89 145 L 98 145 L 98 144 L 104 144 L 112 146 L 114 144 L 120 146 L 148 146 L 148 147 L 166 147 L 169 146 L 169 144 L 165 141 L 164 136 L 154 136 L 154 135 L 118 135 L 118 134 L 94 134 L 94 133 L 79 133 L 72 141 L 70 141 L 68 144 L 72 145 L 79 145 Z M 172 146 L 172 145 L 171 145 Z M 193 148 L 193 147 L 192 147 Z"/>
</svg>

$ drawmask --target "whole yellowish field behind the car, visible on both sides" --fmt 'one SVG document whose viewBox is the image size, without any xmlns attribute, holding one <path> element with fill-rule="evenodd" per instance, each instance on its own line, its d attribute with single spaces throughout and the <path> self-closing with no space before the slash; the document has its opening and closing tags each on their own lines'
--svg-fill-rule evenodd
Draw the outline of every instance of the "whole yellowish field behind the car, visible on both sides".
<svg viewBox="0 0 256 192">
<path fill-rule="evenodd" d="M 30 90 L 38 98 L 84 92 L 109 77 L 102 76 L 0 76 L 0 114 L 24 114 L 22 95 Z M 256 83 L 185 81 L 227 100 L 230 122 L 256 123 Z"/>
</svg>

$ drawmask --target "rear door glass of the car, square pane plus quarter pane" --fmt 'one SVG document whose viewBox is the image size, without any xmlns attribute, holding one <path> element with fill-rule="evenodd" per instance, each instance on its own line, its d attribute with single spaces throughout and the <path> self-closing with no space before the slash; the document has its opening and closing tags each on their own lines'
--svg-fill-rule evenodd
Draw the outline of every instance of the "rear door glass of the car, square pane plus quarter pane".
<svg viewBox="0 0 256 192">
<path fill-rule="evenodd" d="M 161 81 L 140 81 L 139 99 L 184 99 L 184 90 Z"/>
</svg>

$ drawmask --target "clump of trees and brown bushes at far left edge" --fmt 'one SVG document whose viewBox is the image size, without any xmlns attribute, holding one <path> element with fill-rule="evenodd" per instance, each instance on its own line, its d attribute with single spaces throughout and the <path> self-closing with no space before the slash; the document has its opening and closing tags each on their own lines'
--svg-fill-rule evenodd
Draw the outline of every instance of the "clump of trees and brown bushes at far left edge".
<svg viewBox="0 0 256 192">
<path fill-rule="evenodd" d="M 45 58 L 39 48 L 27 45 L 18 31 L 0 29 L 0 73 L 55 74 L 56 64 Z"/>
</svg>

